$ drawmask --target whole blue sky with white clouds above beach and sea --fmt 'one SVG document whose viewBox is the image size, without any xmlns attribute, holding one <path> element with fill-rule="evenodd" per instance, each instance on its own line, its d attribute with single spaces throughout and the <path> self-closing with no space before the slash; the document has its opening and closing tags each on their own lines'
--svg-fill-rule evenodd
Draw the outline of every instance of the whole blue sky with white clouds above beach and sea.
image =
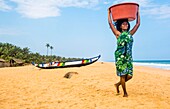
<svg viewBox="0 0 170 109">
<path fill-rule="evenodd" d="M 139 4 L 141 25 L 133 35 L 134 60 L 170 60 L 169 0 L 0 0 L 0 42 L 33 53 L 114 61 L 116 37 L 107 10 L 122 2 Z M 130 22 L 131 27 L 136 21 Z"/>
</svg>

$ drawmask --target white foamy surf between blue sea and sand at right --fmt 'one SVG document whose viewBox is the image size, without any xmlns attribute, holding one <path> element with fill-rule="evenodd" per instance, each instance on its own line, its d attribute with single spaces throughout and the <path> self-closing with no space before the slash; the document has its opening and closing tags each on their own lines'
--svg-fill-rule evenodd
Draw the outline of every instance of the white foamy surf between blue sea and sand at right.
<svg viewBox="0 0 170 109">
<path fill-rule="evenodd" d="M 165 70 L 170 70 L 170 64 L 159 64 L 159 63 L 140 63 L 140 62 L 133 62 L 134 65 L 139 66 L 148 66 L 148 67 L 154 67 L 154 68 L 161 68 Z"/>
</svg>

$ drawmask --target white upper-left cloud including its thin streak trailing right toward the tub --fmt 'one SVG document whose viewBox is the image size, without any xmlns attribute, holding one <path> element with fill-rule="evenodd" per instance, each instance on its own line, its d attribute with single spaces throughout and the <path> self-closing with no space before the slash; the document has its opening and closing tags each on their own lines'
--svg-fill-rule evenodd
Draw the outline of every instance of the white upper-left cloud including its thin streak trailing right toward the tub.
<svg viewBox="0 0 170 109">
<path fill-rule="evenodd" d="M 11 0 L 17 4 L 16 10 L 28 18 L 45 18 L 60 16 L 60 8 L 90 8 L 98 4 L 98 0 Z"/>
</svg>

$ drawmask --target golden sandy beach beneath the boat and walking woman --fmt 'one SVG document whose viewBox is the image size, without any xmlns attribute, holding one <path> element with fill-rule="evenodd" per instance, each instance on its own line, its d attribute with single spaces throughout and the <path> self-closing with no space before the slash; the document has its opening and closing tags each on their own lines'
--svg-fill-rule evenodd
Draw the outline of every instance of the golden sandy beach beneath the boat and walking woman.
<svg viewBox="0 0 170 109">
<path fill-rule="evenodd" d="M 77 72 L 70 79 L 68 72 Z M 116 95 L 114 63 L 64 69 L 0 68 L 0 109 L 170 109 L 170 70 L 134 67 L 128 98 Z"/>
</svg>

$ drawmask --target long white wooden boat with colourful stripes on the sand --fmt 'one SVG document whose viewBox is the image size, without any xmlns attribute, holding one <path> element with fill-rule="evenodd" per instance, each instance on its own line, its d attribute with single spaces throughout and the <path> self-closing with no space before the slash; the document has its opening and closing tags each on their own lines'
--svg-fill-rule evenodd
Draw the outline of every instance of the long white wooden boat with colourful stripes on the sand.
<svg viewBox="0 0 170 109">
<path fill-rule="evenodd" d="M 49 62 L 49 63 L 32 63 L 34 66 L 42 69 L 52 69 L 52 68 L 66 68 L 66 67 L 81 67 L 90 65 L 94 62 L 96 62 L 101 55 L 93 57 L 93 58 L 87 58 L 87 59 L 81 59 L 78 61 L 66 61 L 66 62 Z"/>
</svg>

